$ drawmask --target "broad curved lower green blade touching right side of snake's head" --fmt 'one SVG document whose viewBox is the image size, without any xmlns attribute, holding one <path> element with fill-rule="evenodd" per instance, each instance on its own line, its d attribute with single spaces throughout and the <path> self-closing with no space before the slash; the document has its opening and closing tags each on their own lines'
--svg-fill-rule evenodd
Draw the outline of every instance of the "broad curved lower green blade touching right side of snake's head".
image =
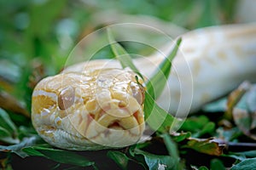
<svg viewBox="0 0 256 170">
<path fill-rule="evenodd" d="M 169 132 L 182 122 L 160 108 L 147 91 L 145 92 L 144 116 L 148 126 L 160 133 Z"/>
</svg>

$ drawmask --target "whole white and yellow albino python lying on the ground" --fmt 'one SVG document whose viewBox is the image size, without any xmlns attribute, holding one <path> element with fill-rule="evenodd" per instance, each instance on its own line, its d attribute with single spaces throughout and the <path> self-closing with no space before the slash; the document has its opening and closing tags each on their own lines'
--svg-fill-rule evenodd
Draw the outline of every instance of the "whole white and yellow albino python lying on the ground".
<svg viewBox="0 0 256 170">
<path fill-rule="evenodd" d="M 255 24 L 202 28 L 182 38 L 168 86 L 157 100 L 166 111 L 186 116 L 242 81 L 255 81 Z M 134 63 L 150 77 L 162 59 L 155 54 Z M 32 94 L 32 124 L 49 144 L 67 150 L 135 144 L 145 129 L 145 89 L 135 75 L 113 59 L 69 66 L 38 82 Z"/>
</svg>

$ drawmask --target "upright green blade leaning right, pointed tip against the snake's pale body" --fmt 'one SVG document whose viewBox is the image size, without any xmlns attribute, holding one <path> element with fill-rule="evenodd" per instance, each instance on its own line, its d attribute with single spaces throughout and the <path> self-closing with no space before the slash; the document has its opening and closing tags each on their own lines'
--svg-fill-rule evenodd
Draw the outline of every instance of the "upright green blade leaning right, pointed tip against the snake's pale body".
<svg viewBox="0 0 256 170">
<path fill-rule="evenodd" d="M 159 69 L 154 71 L 154 76 L 151 77 L 148 82 L 146 82 L 148 94 L 150 94 L 153 99 L 157 99 L 166 86 L 166 80 L 168 80 L 172 67 L 172 59 L 174 59 L 176 56 L 177 49 L 181 42 L 182 39 L 178 38 L 171 54 L 169 54 L 169 56 L 161 62 Z"/>
</svg>

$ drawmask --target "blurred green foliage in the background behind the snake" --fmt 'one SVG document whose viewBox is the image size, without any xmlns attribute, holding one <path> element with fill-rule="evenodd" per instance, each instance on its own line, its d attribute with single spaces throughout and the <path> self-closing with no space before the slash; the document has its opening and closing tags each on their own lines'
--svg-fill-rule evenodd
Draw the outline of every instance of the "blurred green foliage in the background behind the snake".
<svg viewBox="0 0 256 170">
<path fill-rule="evenodd" d="M 0 0 L 0 108 L 8 114 L 1 109 L 0 113 L 15 124 L 7 135 L 9 141 L 0 140 L 0 145 L 21 144 L 24 137 L 35 134 L 29 117 L 32 89 L 43 77 L 60 72 L 75 45 L 91 32 L 127 19 L 145 22 L 142 15 L 147 15 L 149 25 L 159 25 L 167 34 L 173 33 L 172 24 L 184 32 L 246 22 L 244 14 L 255 16 L 247 10 L 250 4 L 245 8 L 241 3 L 249 1 L 253 0 Z M 137 52 L 145 47 L 125 48 Z M 113 54 L 107 47 L 97 57 Z M 4 125 L 1 114 L 0 125 Z M 0 138 L 5 137 L 1 132 Z M 9 161 L 1 154 L 0 168 Z"/>
</svg>

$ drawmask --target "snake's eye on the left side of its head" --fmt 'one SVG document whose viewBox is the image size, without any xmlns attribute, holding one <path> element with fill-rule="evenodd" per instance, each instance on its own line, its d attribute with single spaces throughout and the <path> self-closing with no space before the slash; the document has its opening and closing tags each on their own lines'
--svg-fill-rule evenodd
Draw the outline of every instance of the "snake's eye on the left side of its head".
<svg viewBox="0 0 256 170">
<path fill-rule="evenodd" d="M 61 111 L 67 110 L 74 103 L 75 89 L 73 87 L 67 87 L 61 90 L 58 96 L 58 105 Z"/>
</svg>

